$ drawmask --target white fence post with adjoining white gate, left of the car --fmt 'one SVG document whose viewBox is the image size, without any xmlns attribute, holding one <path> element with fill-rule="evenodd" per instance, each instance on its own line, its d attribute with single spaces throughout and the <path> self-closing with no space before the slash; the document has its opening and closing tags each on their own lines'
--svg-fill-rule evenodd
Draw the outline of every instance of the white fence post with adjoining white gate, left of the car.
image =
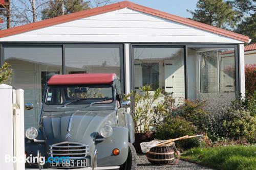
<svg viewBox="0 0 256 170">
<path fill-rule="evenodd" d="M 0 84 L 0 169 L 24 170 L 24 90 Z"/>
</svg>

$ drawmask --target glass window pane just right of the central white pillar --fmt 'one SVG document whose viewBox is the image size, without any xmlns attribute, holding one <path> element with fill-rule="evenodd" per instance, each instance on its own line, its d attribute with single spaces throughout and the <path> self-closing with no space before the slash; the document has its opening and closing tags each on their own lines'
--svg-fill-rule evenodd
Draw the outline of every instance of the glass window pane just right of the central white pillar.
<svg viewBox="0 0 256 170">
<path fill-rule="evenodd" d="M 165 45 L 133 45 L 134 88 L 151 85 L 175 98 L 185 98 L 184 48 Z"/>
</svg>

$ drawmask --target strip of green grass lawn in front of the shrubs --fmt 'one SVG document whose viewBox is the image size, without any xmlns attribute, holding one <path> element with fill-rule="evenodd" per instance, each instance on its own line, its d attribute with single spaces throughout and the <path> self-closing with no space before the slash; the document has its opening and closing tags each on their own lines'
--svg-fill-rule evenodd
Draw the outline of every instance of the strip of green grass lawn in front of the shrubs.
<svg viewBox="0 0 256 170">
<path fill-rule="evenodd" d="M 181 159 L 216 169 L 256 169 L 256 146 L 230 146 L 193 148 L 181 155 Z"/>
</svg>

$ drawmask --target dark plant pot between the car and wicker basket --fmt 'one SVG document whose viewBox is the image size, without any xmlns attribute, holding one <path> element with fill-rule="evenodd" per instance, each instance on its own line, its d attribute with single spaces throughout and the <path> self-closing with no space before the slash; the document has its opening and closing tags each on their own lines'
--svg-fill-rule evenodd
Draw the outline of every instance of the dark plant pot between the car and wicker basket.
<svg viewBox="0 0 256 170">
<path fill-rule="evenodd" d="M 135 142 L 133 143 L 133 145 L 137 153 L 142 153 L 140 148 L 140 143 L 151 141 L 153 138 L 153 135 L 154 135 L 154 132 L 135 133 Z"/>
</svg>

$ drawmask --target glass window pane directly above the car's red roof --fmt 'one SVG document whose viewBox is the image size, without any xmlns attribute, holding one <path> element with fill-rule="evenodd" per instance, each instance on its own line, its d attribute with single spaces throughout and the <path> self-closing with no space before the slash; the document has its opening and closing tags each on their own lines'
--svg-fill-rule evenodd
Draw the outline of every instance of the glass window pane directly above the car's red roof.
<svg viewBox="0 0 256 170">
<path fill-rule="evenodd" d="M 120 78 L 119 47 L 66 47 L 67 74 L 115 73 Z"/>
</svg>

